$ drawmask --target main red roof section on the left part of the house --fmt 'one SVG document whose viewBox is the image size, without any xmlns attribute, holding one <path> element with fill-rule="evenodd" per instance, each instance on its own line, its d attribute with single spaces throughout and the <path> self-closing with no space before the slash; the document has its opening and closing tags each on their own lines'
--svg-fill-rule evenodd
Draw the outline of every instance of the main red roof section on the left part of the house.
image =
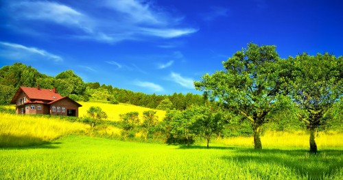
<svg viewBox="0 0 343 180">
<path fill-rule="evenodd" d="M 14 94 L 14 97 L 12 99 L 12 103 L 15 103 L 16 98 L 21 94 L 21 92 L 24 92 L 27 96 L 27 98 L 30 101 L 35 100 L 42 100 L 42 101 L 56 101 L 58 99 L 62 99 L 62 96 L 58 94 L 57 92 L 54 92 L 54 90 L 49 89 L 40 89 L 40 88 L 28 88 L 21 86 L 17 91 L 16 94 Z"/>
</svg>

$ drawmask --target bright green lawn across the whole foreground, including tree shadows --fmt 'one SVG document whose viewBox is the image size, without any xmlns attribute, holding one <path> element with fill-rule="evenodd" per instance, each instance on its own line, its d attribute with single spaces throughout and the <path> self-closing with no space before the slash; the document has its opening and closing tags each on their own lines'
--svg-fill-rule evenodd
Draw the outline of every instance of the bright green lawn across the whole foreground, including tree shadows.
<svg viewBox="0 0 343 180">
<path fill-rule="evenodd" d="M 343 179 L 343 149 L 171 146 L 67 136 L 0 149 L 0 179 Z"/>
</svg>

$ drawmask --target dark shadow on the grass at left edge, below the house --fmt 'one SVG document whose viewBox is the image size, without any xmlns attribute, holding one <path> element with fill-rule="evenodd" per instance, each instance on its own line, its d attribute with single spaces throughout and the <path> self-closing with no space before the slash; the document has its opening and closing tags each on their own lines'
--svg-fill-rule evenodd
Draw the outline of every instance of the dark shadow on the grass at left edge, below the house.
<svg viewBox="0 0 343 180">
<path fill-rule="evenodd" d="M 32 136 L 0 135 L 1 149 L 58 149 L 61 142 L 49 142 Z"/>
</svg>

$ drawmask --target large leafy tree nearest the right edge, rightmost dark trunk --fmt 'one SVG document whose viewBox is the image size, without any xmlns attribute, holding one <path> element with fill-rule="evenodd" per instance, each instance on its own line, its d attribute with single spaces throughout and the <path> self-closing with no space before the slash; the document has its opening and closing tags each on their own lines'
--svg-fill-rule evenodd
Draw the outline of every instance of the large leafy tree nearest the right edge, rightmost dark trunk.
<svg viewBox="0 0 343 180">
<path fill-rule="evenodd" d="M 289 57 L 292 62 L 292 83 L 289 94 L 300 108 L 298 116 L 309 129 L 309 149 L 316 153 L 316 131 L 318 127 L 329 123 L 333 105 L 343 93 L 343 57 L 336 58 L 325 53 L 316 56 L 298 55 Z M 335 115 L 342 114 L 342 110 Z"/>
</svg>

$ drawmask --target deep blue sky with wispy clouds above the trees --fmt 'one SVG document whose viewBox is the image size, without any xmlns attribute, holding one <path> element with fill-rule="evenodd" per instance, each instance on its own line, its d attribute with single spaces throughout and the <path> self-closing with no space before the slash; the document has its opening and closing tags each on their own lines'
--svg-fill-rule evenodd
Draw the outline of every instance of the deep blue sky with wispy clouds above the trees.
<svg viewBox="0 0 343 180">
<path fill-rule="evenodd" d="M 0 0 L 0 67 L 21 62 L 56 76 L 134 92 L 201 93 L 193 81 L 222 70 L 249 42 L 343 55 L 340 1 Z"/>
</svg>

